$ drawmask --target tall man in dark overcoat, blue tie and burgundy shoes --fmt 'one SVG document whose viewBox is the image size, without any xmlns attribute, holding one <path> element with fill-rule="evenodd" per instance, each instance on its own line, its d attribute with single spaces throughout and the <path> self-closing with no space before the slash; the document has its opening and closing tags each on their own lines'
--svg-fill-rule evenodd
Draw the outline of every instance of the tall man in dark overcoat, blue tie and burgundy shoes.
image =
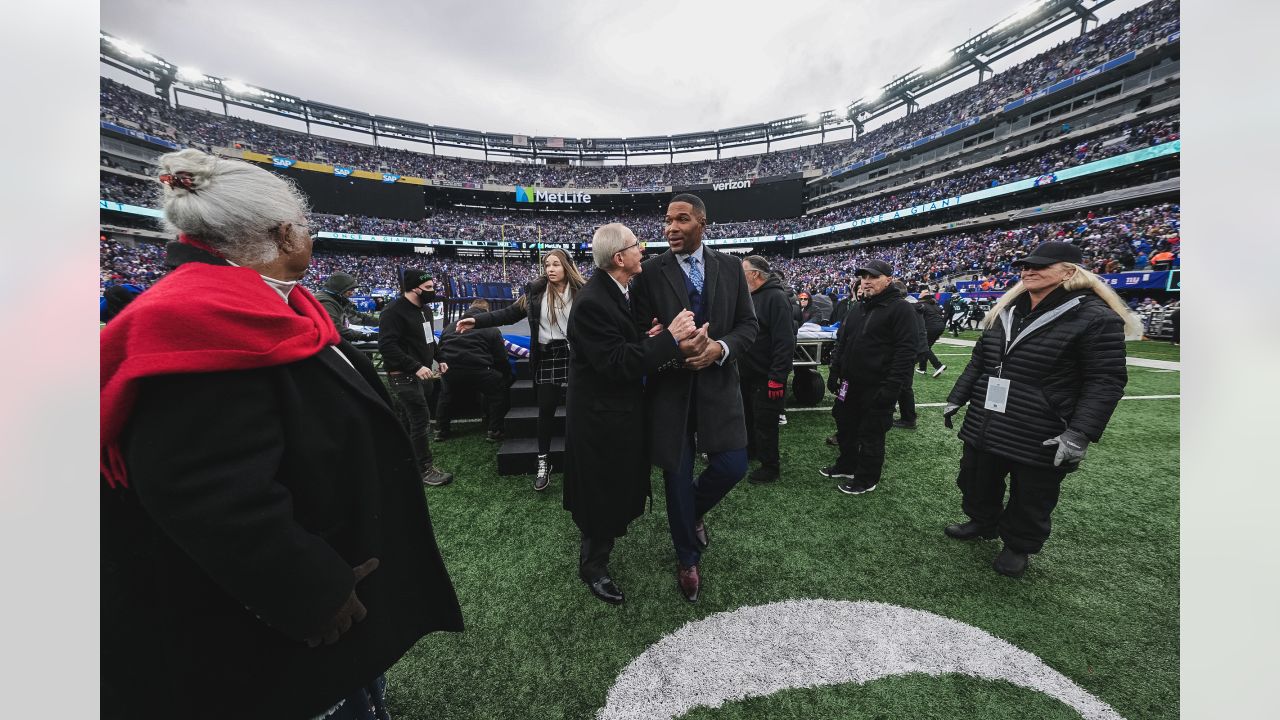
<svg viewBox="0 0 1280 720">
<path fill-rule="evenodd" d="M 631 288 L 643 323 L 692 310 L 710 340 L 700 352 L 682 348 L 682 366 L 650 375 L 645 384 L 653 462 L 662 468 L 667 486 L 676 578 L 690 602 L 698 600 L 699 562 L 709 539 L 703 515 L 746 474 L 737 360 L 758 329 L 740 260 L 704 246 L 705 229 L 707 206 L 700 197 L 672 197 L 666 217 L 669 250 L 645 261 Z M 708 466 L 694 478 L 696 452 L 708 455 Z"/>
</svg>

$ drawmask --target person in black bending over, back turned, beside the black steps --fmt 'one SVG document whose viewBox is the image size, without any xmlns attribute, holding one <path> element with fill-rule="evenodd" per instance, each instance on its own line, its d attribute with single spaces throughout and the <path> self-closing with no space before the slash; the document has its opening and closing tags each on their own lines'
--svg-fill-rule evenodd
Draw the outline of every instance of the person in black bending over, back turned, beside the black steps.
<svg viewBox="0 0 1280 720">
<path fill-rule="evenodd" d="M 471 307 L 462 316 L 474 318 L 488 311 L 489 301 L 481 297 L 471 302 Z M 511 375 L 511 363 L 507 361 L 502 332 L 498 328 L 485 328 L 462 334 L 457 328 L 445 327 L 440 331 L 440 351 L 436 352 L 436 357 L 449 368 L 449 373 L 440 378 L 435 439 L 449 438 L 453 401 L 465 393 L 480 391 L 488 420 L 485 439 L 500 441 L 502 420 L 507 415 L 507 378 Z"/>
</svg>

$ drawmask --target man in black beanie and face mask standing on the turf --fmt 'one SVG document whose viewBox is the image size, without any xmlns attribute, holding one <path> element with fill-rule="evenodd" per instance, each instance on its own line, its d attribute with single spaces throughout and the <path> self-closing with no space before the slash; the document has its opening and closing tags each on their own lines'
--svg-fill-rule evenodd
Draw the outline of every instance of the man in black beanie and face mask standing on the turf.
<svg viewBox="0 0 1280 720">
<path fill-rule="evenodd" d="M 430 382 L 449 370 L 448 363 L 435 361 L 435 281 L 426 270 L 404 270 L 401 278 L 404 295 L 388 305 L 378 318 L 378 351 L 383 354 L 387 380 L 392 393 L 404 409 L 410 441 L 422 470 L 422 483 L 444 486 L 453 482 L 452 473 L 435 468 L 431 457 Z"/>
</svg>

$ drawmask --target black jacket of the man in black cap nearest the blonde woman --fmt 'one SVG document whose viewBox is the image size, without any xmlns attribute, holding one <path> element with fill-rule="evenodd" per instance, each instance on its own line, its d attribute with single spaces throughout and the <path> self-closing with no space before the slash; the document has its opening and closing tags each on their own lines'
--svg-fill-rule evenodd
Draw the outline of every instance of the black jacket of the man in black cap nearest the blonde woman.
<svg viewBox="0 0 1280 720">
<path fill-rule="evenodd" d="M 877 405 L 896 402 L 915 365 L 916 323 L 905 295 L 892 286 L 855 304 L 836 333 L 832 375 L 861 393 L 872 393 Z"/>
</svg>

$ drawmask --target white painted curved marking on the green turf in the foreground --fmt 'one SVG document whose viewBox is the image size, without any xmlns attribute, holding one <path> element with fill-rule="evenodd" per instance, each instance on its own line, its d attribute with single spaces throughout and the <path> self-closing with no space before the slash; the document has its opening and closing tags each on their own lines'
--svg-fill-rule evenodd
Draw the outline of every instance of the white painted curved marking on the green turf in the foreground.
<svg viewBox="0 0 1280 720">
<path fill-rule="evenodd" d="M 1039 657 L 973 625 L 883 602 L 788 600 L 689 623 L 631 661 L 599 720 L 673 720 L 695 707 L 891 675 L 1006 680 L 1088 720 L 1123 720 Z"/>
</svg>

